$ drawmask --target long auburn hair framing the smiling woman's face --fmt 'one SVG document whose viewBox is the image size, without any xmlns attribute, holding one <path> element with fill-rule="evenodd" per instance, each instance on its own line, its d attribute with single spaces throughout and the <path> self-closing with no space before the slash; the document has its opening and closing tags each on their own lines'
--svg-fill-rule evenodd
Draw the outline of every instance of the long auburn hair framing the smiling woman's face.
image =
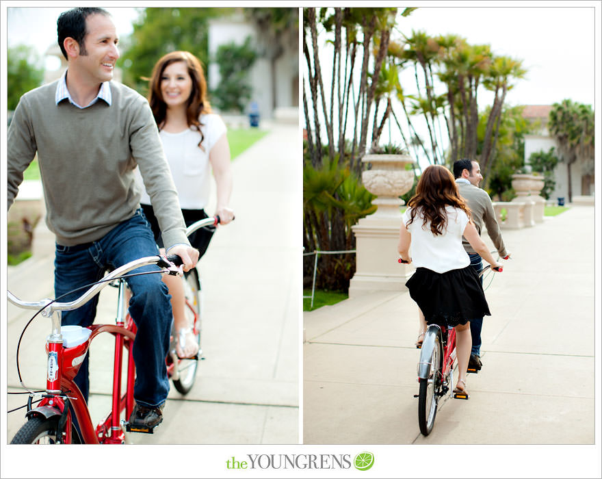
<svg viewBox="0 0 602 479">
<path fill-rule="evenodd" d="M 153 75 L 150 77 L 150 88 L 148 89 L 148 103 L 150 109 L 153 110 L 153 116 L 155 116 L 155 122 L 159 130 L 163 128 L 165 123 L 165 117 L 167 112 L 167 105 L 163 100 L 163 94 L 161 93 L 161 77 L 163 71 L 168 65 L 176 62 L 184 62 L 188 69 L 188 75 L 192 79 L 192 90 L 188 97 L 186 107 L 186 120 L 189 127 L 195 127 L 200 133 L 200 142 L 198 146 L 202 148 L 201 142 L 203 140 L 202 131 L 200 131 L 200 115 L 204 113 L 211 113 L 211 105 L 207 99 L 207 80 L 205 79 L 205 73 L 203 73 L 202 66 L 197 57 L 188 51 L 172 51 L 159 58 L 159 61 L 153 68 Z M 204 148 L 202 148 L 204 149 Z"/>
</svg>

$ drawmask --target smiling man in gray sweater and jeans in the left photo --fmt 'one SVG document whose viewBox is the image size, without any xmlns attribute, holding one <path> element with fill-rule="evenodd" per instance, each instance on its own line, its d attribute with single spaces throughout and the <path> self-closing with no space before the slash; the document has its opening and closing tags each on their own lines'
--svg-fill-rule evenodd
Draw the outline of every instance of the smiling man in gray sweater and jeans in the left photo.
<svg viewBox="0 0 602 479">
<path fill-rule="evenodd" d="M 143 96 L 112 81 L 119 57 L 116 28 L 101 8 L 73 8 L 57 20 L 58 43 L 68 68 L 61 79 L 21 97 L 8 129 L 8 207 L 23 172 L 38 153 L 47 224 L 56 236 L 55 296 L 98 281 L 107 268 L 158 250 L 140 209 L 133 168 L 138 164 L 169 253 L 184 270 L 196 266 L 178 197 L 153 114 Z M 156 268 L 146 267 L 148 270 Z M 130 423 L 154 428 L 169 391 L 165 358 L 172 309 L 158 274 L 128 279 L 129 312 L 138 333 Z M 77 297 L 81 292 L 75 292 Z M 70 296 L 64 298 L 70 300 Z M 62 324 L 90 326 L 98 296 Z M 75 382 L 88 399 L 88 357 Z"/>
</svg>

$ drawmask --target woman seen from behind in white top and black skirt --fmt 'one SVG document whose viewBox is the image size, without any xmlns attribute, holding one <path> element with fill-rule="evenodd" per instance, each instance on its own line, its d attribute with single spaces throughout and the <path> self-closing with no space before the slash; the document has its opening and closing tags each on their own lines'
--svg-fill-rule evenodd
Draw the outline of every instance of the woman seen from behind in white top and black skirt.
<svg viewBox="0 0 602 479">
<path fill-rule="evenodd" d="M 482 318 L 490 312 L 477 273 L 462 247 L 462 235 L 492 268 L 501 266 L 471 222 L 454 176 L 445 166 L 428 166 L 415 196 L 408 201 L 397 249 L 403 261 L 416 266 L 406 286 L 426 322 L 456 328 L 459 378 L 454 393 L 466 394 L 472 345 L 469 318 Z"/>
</svg>

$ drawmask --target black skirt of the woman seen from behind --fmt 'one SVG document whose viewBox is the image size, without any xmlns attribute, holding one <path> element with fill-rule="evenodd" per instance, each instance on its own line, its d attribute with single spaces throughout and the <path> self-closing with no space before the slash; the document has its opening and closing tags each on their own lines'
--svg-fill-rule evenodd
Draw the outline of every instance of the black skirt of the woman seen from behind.
<svg viewBox="0 0 602 479">
<path fill-rule="evenodd" d="M 428 324 L 458 326 L 491 315 L 479 275 L 472 266 L 445 273 L 416 268 L 406 286 Z"/>
</svg>

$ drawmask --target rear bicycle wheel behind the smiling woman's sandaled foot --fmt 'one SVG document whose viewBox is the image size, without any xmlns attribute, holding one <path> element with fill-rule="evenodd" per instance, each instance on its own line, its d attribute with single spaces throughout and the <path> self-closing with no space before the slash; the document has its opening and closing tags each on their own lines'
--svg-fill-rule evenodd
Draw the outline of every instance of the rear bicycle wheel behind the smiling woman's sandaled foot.
<svg viewBox="0 0 602 479">
<path fill-rule="evenodd" d="M 184 276 L 184 291 L 187 304 L 194 309 L 194 314 L 186 307 L 186 318 L 189 321 L 187 325 L 192 328 L 198 344 L 198 354 L 196 358 L 180 359 L 178 361 L 179 378 L 174 379 L 174 387 L 181 394 L 187 394 L 194 386 L 196 371 L 198 369 L 198 360 L 201 357 L 200 349 L 200 324 L 201 324 L 201 305 L 200 305 L 200 281 L 196 269 L 190 270 Z M 195 319 L 196 318 L 196 319 Z"/>
</svg>

